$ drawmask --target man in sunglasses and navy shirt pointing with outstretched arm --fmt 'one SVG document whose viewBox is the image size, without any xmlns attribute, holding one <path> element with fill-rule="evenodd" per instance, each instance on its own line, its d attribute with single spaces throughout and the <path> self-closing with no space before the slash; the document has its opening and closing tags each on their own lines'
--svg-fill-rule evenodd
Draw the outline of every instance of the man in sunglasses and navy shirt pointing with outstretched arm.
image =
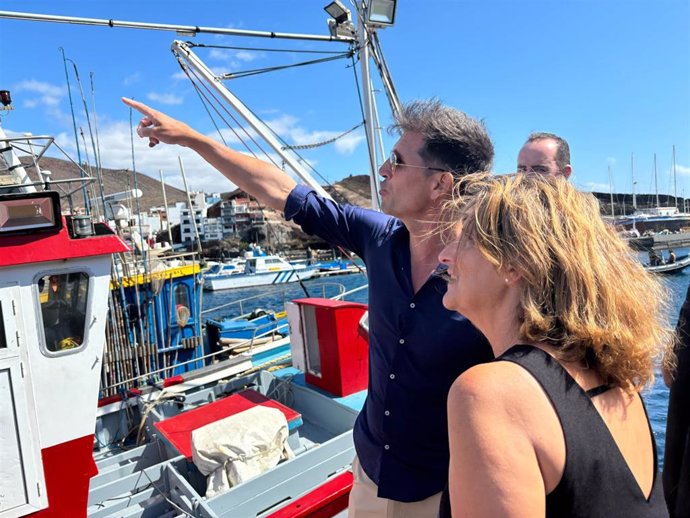
<svg viewBox="0 0 690 518">
<path fill-rule="evenodd" d="M 131 100 L 149 145 L 199 153 L 245 192 L 309 233 L 363 258 L 369 276 L 369 391 L 354 429 L 357 457 L 349 516 L 435 518 L 448 478 L 446 398 L 458 375 L 491 359 L 483 336 L 442 304 L 434 275 L 443 248 L 439 216 L 456 177 L 491 167 L 480 122 L 438 101 L 414 102 L 380 169 L 386 214 L 339 205 L 297 186 L 277 167 L 205 137 Z"/>
</svg>

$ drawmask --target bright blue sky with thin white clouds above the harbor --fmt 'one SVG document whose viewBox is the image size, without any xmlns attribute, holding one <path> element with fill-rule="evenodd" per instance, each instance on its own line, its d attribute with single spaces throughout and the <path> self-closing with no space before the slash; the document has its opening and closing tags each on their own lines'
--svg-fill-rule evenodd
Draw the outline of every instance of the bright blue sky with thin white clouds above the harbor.
<svg viewBox="0 0 690 518">
<path fill-rule="evenodd" d="M 239 29 L 327 34 L 327 2 L 120 0 L 4 0 L 0 9 Z M 676 146 L 678 195 L 690 196 L 690 1 L 688 0 L 429 0 L 401 2 L 395 27 L 380 32 L 403 102 L 436 96 L 485 121 L 496 148 L 494 170 L 515 168 L 532 131 L 568 139 L 573 181 L 584 190 L 630 192 L 630 154 L 637 192 L 653 192 L 653 155 L 659 190 L 672 194 L 671 149 Z M 287 9 L 287 10 L 286 10 Z M 105 167 L 131 168 L 129 110 L 135 97 L 197 129 L 214 127 L 169 51 L 170 32 L 109 29 L 0 19 L 0 87 L 16 109 L 3 116 L 8 132 L 54 134 L 75 155 L 59 47 L 79 67 L 91 107 L 93 73 Z M 338 44 L 200 35 L 197 43 L 302 50 L 344 50 Z M 199 49 L 214 70 L 238 71 L 314 56 Z M 229 87 L 290 144 L 310 144 L 361 121 L 348 61 L 293 68 L 231 81 Z M 72 95 L 83 119 L 70 66 Z M 384 125 L 386 100 L 377 94 Z M 92 114 L 93 116 L 93 114 Z M 135 120 L 138 120 L 135 119 Z M 236 139 L 228 134 L 230 142 Z M 394 138 L 386 135 L 388 149 Z M 362 131 L 304 153 L 328 180 L 366 172 Z M 83 151 L 82 151 L 83 153 Z M 92 153 L 90 153 L 92 154 Z M 137 169 L 180 186 L 181 154 L 192 188 L 226 191 L 232 185 L 186 150 L 135 145 Z"/>
</svg>

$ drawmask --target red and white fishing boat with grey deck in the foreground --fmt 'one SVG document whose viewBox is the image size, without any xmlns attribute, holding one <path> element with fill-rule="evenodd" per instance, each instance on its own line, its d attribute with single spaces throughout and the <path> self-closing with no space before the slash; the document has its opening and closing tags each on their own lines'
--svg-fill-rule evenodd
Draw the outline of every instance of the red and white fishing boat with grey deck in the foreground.
<svg viewBox="0 0 690 518">
<path fill-rule="evenodd" d="M 0 245 L 9 252 L 0 272 L 13 279 L 0 284 L 3 516 L 344 508 L 367 380 L 367 346 L 356 332 L 365 305 L 293 302 L 289 368 L 237 377 L 237 363 L 224 362 L 97 406 L 112 254 L 128 246 L 104 224 L 75 232 L 54 191 L 2 194 L 0 211 L 8 216 Z M 313 329 L 314 321 L 323 324 Z M 253 442 L 233 434 L 240 425 Z M 243 455 L 221 458 L 228 445 L 267 450 L 276 434 L 278 454 L 259 466 Z M 200 437 L 221 440 L 202 445 Z"/>
</svg>

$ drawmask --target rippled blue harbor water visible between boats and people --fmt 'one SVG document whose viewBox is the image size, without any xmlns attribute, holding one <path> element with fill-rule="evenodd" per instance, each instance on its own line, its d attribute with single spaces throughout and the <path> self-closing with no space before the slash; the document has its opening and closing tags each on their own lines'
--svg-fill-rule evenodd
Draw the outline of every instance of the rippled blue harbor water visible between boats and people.
<svg viewBox="0 0 690 518">
<path fill-rule="evenodd" d="M 679 254 L 687 253 L 684 250 L 678 251 Z M 669 276 L 662 276 L 662 281 L 668 288 L 671 298 L 669 322 L 675 326 L 678 320 L 680 307 L 685 300 L 685 294 L 690 285 L 690 269 L 688 271 Z M 303 283 L 304 289 L 297 283 L 270 286 L 259 288 L 247 288 L 242 290 L 228 290 L 216 292 L 204 292 L 203 307 L 206 309 L 228 304 L 241 299 L 252 298 L 243 303 L 242 309 L 245 313 L 259 307 L 273 311 L 281 311 L 285 302 L 292 299 L 306 296 L 312 297 L 332 297 L 339 293 L 338 286 L 343 286 L 345 290 L 352 290 L 366 283 L 364 275 L 354 273 L 338 277 L 329 277 L 316 280 L 309 280 Z M 305 292 L 306 289 L 306 292 Z M 643 296 L 641 294 L 641 296 Z M 257 297 L 257 298 L 253 298 Z M 351 296 L 347 300 L 354 302 L 367 302 L 367 290 L 362 290 Z M 240 315 L 239 305 L 232 305 L 224 309 L 210 311 L 204 314 L 204 318 L 220 318 L 222 316 Z M 661 372 L 657 370 L 654 385 L 643 393 L 647 411 L 652 423 L 652 429 L 656 437 L 659 449 L 659 462 L 663 461 L 664 439 L 666 435 L 666 411 L 668 407 L 668 389 L 664 385 Z"/>
</svg>

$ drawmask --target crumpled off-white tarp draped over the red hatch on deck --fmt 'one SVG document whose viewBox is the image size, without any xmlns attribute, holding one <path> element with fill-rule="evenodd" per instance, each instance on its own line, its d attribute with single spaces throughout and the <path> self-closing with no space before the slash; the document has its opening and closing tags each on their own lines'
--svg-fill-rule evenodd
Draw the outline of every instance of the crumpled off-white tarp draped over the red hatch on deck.
<svg viewBox="0 0 690 518">
<path fill-rule="evenodd" d="M 206 497 L 293 458 L 287 438 L 285 414 L 261 405 L 194 430 L 192 460 L 208 477 Z"/>
</svg>

